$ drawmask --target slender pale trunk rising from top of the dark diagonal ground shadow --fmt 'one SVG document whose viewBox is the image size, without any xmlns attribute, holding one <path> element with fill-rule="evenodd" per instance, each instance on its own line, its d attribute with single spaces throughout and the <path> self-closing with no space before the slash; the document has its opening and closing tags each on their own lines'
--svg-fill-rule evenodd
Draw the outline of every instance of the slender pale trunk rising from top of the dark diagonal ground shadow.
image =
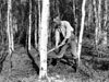
<svg viewBox="0 0 109 82">
<path fill-rule="evenodd" d="M 29 0 L 29 28 L 28 28 L 28 50 L 31 50 L 31 32 L 32 31 L 32 0 Z"/>
</svg>

